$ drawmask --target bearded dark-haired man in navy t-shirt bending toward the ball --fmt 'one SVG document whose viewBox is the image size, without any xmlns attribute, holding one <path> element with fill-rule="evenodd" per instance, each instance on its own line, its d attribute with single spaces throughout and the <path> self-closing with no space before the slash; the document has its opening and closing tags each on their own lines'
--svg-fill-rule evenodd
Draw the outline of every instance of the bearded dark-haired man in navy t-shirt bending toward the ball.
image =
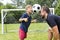
<svg viewBox="0 0 60 40">
<path fill-rule="evenodd" d="M 40 15 L 50 26 L 48 40 L 52 40 L 52 37 L 54 37 L 54 40 L 60 40 L 60 16 L 51 15 L 47 6 L 42 6 Z"/>
</svg>

